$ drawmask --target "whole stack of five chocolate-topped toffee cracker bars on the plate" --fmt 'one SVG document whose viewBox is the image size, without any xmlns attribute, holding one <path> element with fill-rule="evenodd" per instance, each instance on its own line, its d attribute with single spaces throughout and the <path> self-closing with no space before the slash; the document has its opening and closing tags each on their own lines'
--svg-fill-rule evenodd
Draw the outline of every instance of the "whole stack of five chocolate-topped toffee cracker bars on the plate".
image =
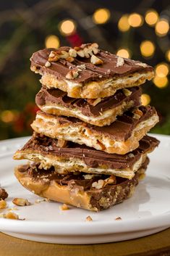
<svg viewBox="0 0 170 256">
<path fill-rule="evenodd" d="M 146 135 L 156 110 L 140 102 L 153 67 L 83 44 L 37 51 L 31 70 L 43 86 L 33 137 L 14 154 L 33 161 L 15 169 L 22 186 L 93 211 L 130 197 L 159 143 Z"/>
</svg>

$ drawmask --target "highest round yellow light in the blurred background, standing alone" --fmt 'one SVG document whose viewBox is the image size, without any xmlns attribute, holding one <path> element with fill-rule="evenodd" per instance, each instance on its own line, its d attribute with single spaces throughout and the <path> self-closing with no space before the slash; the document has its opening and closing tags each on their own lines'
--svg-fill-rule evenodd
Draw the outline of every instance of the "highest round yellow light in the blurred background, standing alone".
<svg viewBox="0 0 170 256">
<path fill-rule="evenodd" d="M 110 16 L 111 13 L 109 9 L 96 9 L 96 11 L 93 14 L 93 22 L 95 22 L 96 24 L 106 23 L 109 20 Z"/>
</svg>

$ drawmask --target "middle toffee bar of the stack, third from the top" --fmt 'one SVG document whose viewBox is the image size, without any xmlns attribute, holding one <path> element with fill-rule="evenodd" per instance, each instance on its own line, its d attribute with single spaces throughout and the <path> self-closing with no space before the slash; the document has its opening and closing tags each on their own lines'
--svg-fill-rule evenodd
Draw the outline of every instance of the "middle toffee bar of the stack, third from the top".
<svg viewBox="0 0 170 256">
<path fill-rule="evenodd" d="M 38 112 L 31 127 L 54 139 L 85 144 L 109 154 L 126 154 L 139 146 L 140 139 L 158 123 L 154 107 L 142 106 L 133 109 L 111 125 L 98 127 L 82 122 L 75 117 L 56 117 Z"/>
</svg>

